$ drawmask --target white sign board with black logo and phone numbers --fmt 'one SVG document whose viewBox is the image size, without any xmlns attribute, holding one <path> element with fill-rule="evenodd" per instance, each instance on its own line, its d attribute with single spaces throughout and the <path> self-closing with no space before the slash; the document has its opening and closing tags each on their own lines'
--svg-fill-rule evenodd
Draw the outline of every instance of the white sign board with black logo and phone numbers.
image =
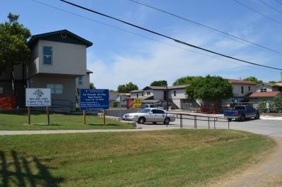
<svg viewBox="0 0 282 187">
<path fill-rule="evenodd" d="M 25 107 L 51 106 L 50 88 L 26 88 Z"/>
</svg>

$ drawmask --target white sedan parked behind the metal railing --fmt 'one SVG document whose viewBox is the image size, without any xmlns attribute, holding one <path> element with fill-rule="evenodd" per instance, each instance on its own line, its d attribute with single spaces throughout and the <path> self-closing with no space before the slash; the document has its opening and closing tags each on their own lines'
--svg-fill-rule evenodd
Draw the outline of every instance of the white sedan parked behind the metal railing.
<svg viewBox="0 0 282 187">
<path fill-rule="evenodd" d="M 166 113 L 163 109 L 145 108 L 137 111 L 137 113 L 130 113 L 123 115 L 123 120 L 135 121 L 143 124 L 147 122 L 157 123 L 162 122 L 168 124 L 170 121 L 176 121 L 176 116 Z"/>
</svg>

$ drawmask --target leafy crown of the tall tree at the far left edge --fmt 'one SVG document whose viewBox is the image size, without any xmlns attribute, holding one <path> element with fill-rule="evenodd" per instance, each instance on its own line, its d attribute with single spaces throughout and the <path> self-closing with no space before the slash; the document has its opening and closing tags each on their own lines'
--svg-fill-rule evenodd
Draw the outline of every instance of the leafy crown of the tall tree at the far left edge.
<svg viewBox="0 0 282 187">
<path fill-rule="evenodd" d="M 18 23 L 19 15 L 8 14 L 8 22 L 0 24 L 0 75 L 13 66 L 30 61 L 27 39 L 30 30 Z"/>
</svg>

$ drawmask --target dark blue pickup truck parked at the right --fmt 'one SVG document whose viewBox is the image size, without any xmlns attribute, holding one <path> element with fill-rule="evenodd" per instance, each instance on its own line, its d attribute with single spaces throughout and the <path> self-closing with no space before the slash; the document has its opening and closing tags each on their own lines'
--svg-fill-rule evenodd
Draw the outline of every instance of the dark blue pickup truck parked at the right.
<svg viewBox="0 0 282 187">
<path fill-rule="evenodd" d="M 259 119 L 259 111 L 250 105 L 237 105 L 234 107 L 234 109 L 225 110 L 224 117 L 229 121 L 232 119 L 237 119 L 240 121 L 245 121 L 249 118 Z"/>
</svg>

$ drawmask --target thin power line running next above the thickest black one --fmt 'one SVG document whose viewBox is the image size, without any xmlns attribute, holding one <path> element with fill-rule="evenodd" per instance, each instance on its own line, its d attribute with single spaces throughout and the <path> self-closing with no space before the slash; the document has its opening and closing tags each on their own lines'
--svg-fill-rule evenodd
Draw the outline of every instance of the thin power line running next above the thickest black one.
<svg viewBox="0 0 282 187">
<path fill-rule="evenodd" d="M 147 6 L 148 8 L 152 8 L 152 9 L 157 10 L 157 11 L 161 11 L 162 13 L 166 13 L 166 14 L 168 14 L 168 15 L 170 15 L 170 16 L 174 16 L 174 17 L 176 17 L 176 18 L 180 18 L 181 20 L 185 20 L 185 21 L 188 21 L 188 22 L 190 22 L 190 23 L 194 23 L 194 24 L 196 24 L 196 25 L 200 25 L 200 26 L 202 26 L 203 28 L 206 28 L 206 29 L 208 29 L 208 30 L 215 31 L 216 33 L 220 32 L 220 33 L 223 34 L 223 35 L 228 35 L 229 37 L 233 37 L 233 38 L 238 39 L 238 40 L 241 40 L 241 41 L 243 41 L 243 42 L 247 42 L 247 43 L 249 43 L 249 44 L 253 44 L 253 45 L 257 46 L 257 47 L 260 47 L 260 48 L 269 50 L 269 51 L 274 52 L 274 53 L 276 53 L 276 54 L 282 54 L 281 52 L 278 52 L 278 51 L 276 51 L 276 50 L 274 50 L 274 49 L 270 49 L 269 47 L 264 47 L 264 46 L 262 46 L 262 45 L 260 45 L 260 44 L 256 44 L 255 42 L 250 42 L 250 41 L 245 40 L 245 39 L 243 39 L 243 38 L 241 38 L 241 37 L 237 37 L 237 36 L 235 36 L 235 35 L 228 34 L 227 32 L 223 32 L 223 31 L 218 30 L 218 29 L 216 29 L 216 28 L 212 28 L 212 27 L 209 27 L 209 26 L 204 25 L 204 24 L 202 24 L 202 23 L 198 23 L 198 22 L 196 22 L 195 20 L 190 20 L 190 19 L 188 19 L 188 18 L 183 18 L 182 16 L 178 16 L 178 15 L 176 15 L 176 14 L 174 14 L 174 13 L 169 13 L 168 11 L 164 11 L 164 10 L 162 10 L 161 8 L 157 8 L 157 7 L 155 7 L 155 6 L 152 6 L 152 5 L 149 5 L 149 4 L 145 4 L 145 3 L 142 2 L 142 1 L 135 1 L 135 0 L 129 0 L 129 1 L 132 1 L 133 3 L 136 3 L 136 4 L 140 4 L 140 5 L 142 5 L 142 6 Z"/>
</svg>

